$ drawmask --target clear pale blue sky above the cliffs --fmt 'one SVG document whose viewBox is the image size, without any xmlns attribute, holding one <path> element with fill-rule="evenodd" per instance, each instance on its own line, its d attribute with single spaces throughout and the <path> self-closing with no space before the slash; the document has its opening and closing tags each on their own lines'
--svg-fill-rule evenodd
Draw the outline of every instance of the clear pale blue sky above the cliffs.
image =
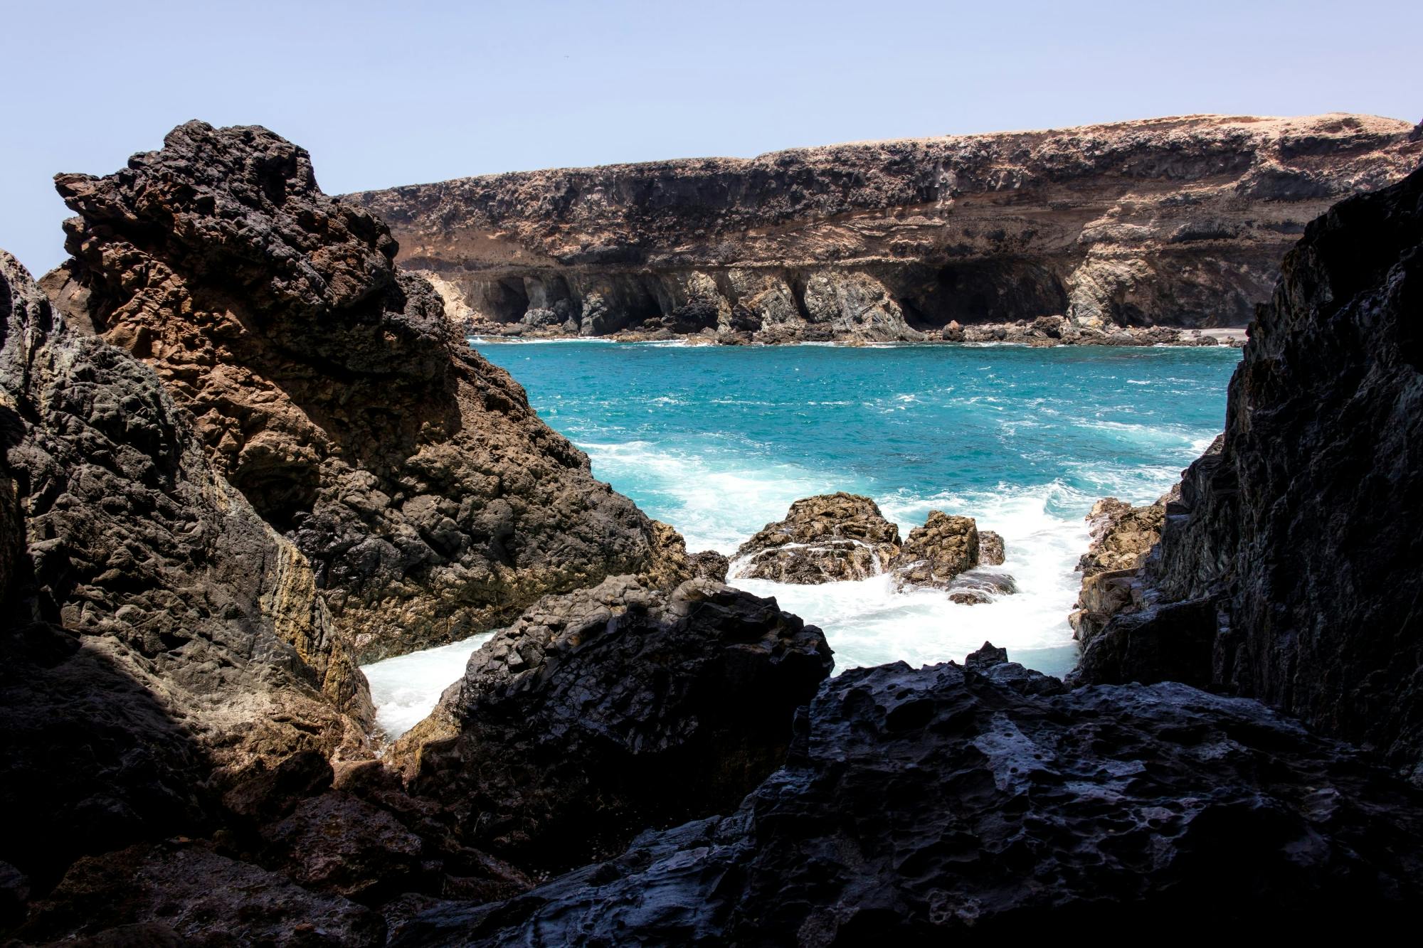
<svg viewBox="0 0 1423 948">
<path fill-rule="evenodd" d="M 0 246 L 57 171 L 260 124 L 329 192 L 1184 112 L 1423 117 L 1423 3 L 0 0 Z"/>
</svg>

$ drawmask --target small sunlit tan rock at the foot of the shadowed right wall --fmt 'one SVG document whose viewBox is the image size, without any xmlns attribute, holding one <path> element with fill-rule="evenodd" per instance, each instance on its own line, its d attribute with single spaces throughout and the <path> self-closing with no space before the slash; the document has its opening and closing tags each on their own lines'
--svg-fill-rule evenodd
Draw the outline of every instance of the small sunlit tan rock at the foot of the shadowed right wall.
<svg viewBox="0 0 1423 948">
<path fill-rule="evenodd" d="M 1220 450 L 1220 438 L 1208 450 Z M 1091 505 L 1091 544 L 1077 561 L 1081 591 L 1077 608 L 1067 616 L 1073 638 L 1083 646 L 1111 621 L 1111 616 L 1140 608 L 1141 582 L 1137 571 L 1161 538 L 1167 502 L 1180 498 L 1173 488 L 1154 504 L 1133 507 L 1116 497 Z"/>
</svg>

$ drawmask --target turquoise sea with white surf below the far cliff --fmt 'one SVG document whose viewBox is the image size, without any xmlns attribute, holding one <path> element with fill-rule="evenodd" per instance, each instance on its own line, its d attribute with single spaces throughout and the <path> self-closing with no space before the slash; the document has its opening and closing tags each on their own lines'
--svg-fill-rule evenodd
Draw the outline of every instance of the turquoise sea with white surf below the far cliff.
<svg viewBox="0 0 1423 948">
<path fill-rule="evenodd" d="M 824 628 L 837 669 L 959 660 L 992 639 L 1059 675 L 1076 653 L 1066 616 L 1083 515 L 1107 494 L 1143 502 L 1170 488 L 1220 433 L 1239 360 L 1227 347 L 475 347 L 693 551 L 730 554 L 791 501 L 835 490 L 874 497 L 904 531 L 938 508 L 1003 534 L 1020 592 L 985 605 L 895 592 L 888 576 L 733 578 Z"/>
</svg>

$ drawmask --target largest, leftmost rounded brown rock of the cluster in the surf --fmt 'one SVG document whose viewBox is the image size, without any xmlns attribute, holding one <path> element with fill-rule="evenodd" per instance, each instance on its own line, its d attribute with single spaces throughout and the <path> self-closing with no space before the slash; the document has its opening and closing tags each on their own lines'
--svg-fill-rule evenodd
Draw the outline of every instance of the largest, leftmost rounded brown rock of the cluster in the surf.
<svg viewBox="0 0 1423 948">
<path fill-rule="evenodd" d="M 821 494 L 791 504 L 736 551 L 737 576 L 818 584 L 867 579 L 899 552 L 899 528 L 858 494 Z"/>
</svg>

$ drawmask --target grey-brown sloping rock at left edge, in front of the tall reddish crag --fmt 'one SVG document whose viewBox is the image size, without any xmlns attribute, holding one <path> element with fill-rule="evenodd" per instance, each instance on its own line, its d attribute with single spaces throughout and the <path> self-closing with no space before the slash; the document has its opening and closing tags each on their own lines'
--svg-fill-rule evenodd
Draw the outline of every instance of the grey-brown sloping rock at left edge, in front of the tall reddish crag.
<svg viewBox="0 0 1423 948">
<path fill-rule="evenodd" d="M 27 539 L 0 633 L 0 860 L 53 885 L 80 853 L 329 783 L 373 709 L 306 559 L 154 372 L 68 329 L 3 252 L 0 299 L 0 468 Z"/>
</svg>

